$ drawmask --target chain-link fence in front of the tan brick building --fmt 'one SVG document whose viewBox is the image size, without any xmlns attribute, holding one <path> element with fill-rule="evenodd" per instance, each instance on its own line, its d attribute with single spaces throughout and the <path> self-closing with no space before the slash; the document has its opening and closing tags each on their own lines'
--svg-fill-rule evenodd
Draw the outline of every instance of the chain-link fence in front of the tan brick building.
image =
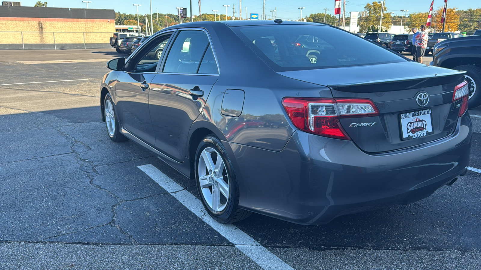
<svg viewBox="0 0 481 270">
<path fill-rule="evenodd" d="M 0 50 L 6 49 L 103 49 L 112 48 L 111 32 L 6 32 Z"/>
</svg>

